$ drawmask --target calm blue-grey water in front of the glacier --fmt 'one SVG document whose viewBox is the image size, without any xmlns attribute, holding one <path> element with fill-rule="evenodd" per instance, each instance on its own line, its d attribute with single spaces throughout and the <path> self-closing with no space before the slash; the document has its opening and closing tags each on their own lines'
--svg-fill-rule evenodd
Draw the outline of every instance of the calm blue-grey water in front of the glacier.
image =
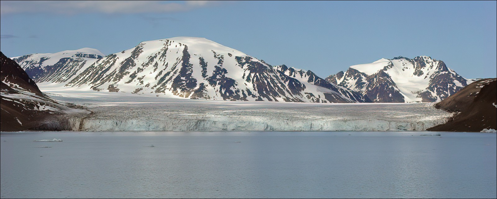
<svg viewBox="0 0 497 199">
<path fill-rule="evenodd" d="M 495 133 L 421 134 L 1 133 L 0 195 L 496 198 Z"/>
</svg>

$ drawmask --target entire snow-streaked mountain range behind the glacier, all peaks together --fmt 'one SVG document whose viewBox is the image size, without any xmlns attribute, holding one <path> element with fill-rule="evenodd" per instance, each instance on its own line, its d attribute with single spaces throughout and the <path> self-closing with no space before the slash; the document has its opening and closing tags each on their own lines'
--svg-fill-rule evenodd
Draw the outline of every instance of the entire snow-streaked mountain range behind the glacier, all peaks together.
<svg viewBox="0 0 497 199">
<path fill-rule="evenodd" d="M 145 41 L 107 56 L 83 48 L 12 59 L 36 82 L 206 100 L 428 102 L 443 100 L 472 82 L 426 56 L 380 59 L 325 80 L 197 37 Z"/>
</svg>

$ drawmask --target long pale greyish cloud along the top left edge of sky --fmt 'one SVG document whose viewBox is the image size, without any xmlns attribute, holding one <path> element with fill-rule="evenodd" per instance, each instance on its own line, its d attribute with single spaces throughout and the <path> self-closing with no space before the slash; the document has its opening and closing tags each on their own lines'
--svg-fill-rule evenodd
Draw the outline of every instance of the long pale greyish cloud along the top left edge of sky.
<svg viewBox="0 0 497 199">
<path fill-rule="evenodd" d="M 2 0 L 0 14 L 15 13 L 166 13 L 187 11 L 221 3 L 219 0 Z"/>
</svg>

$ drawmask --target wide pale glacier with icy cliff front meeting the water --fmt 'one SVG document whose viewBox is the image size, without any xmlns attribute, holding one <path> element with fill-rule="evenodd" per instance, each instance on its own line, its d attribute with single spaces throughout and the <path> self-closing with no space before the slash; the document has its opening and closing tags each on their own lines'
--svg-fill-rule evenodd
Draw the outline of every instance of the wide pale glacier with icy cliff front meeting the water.
<svg viewBox="0 0 497 199">
<path fill-rule="evenodd" d="M 433 103 L 193 100 L 38 86 L 91 111 L 47 124 L 72 131 L 422 131 L 453 115 Z"/>
</svg>

